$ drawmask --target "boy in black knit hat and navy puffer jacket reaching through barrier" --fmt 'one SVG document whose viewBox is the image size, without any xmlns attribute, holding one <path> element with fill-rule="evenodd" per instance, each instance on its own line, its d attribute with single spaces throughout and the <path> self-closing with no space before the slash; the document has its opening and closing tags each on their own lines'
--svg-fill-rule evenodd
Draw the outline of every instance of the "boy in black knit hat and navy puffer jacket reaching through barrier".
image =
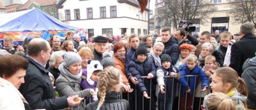
<svg viewBox="0 0 256 110">
<path fill-rule="evenodd" d="M 133 110 L 135 110 L 135 108 L 137 108 L 137 110 L 156 110 L 156 102 L 154 97 L 152 97 L 155 93 L 156 81 L 154 79 L 156 79 L 156 67 L 152 59 L 148 58 L 146 45 L 146 43 L 139 45 L 132 56 L 131 62 L 127 66 L 127 70 L 131 74 L 129 80 L 137 79 L 137 83 L 131 83 L 131 87 L 135 89 L 132 92 Z M 143 80 L 141 76 L 147 76 L 147 78 Z"/>
</svg>

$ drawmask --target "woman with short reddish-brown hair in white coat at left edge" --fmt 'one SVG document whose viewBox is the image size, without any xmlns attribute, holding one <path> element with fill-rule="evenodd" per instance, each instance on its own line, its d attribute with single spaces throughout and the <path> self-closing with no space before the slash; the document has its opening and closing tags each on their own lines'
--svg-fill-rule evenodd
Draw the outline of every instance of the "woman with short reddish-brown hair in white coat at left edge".
<svg viewBox="0 0 256 110">
<path fill-rule="evenodd" d="M 0 110 L 25 110 L 27 101 L 18 88 L 24 83 L 27 68 L 28 60 L 22 56 L 0 56 Z"/>
</svg>

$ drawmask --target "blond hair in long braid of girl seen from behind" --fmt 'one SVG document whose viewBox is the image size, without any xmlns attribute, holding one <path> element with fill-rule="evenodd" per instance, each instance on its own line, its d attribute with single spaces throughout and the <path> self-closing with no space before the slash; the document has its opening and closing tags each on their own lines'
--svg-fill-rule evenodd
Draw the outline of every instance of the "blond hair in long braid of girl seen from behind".
<svg viewBox="0 0 256 110">
<path fill-rule="evenodd" d="M 120 83 L 120 70 L 113 67 L 106 67 L 99 78 L 99 104 L 96 110 L 99 110 L 103 102 L 105 101 L 106 92 L 111 91 L 113 86 Z"/>
</svg>

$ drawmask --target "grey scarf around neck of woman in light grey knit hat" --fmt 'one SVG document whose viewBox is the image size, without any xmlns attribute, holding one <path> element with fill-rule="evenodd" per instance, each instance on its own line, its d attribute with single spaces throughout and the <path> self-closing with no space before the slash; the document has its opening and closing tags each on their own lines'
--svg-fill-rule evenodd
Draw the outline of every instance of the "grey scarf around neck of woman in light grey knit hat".
<svg viewBox="0 0 256 110">
<path fill-rule="evenodd" d="M 78 75 L 73 75 L 72 73 L 69 72 L 69 70 L 67 68 L 64 68 L 63 63 L 61 63 L 61 65 L 58 68 L 61 72 L 61 74 L 64 74 L 72 79 L 76 79 L 79 80 L 79 82 L 81 82 L 82 78 L 82 69 L 80 70 Z"/>
</svg>

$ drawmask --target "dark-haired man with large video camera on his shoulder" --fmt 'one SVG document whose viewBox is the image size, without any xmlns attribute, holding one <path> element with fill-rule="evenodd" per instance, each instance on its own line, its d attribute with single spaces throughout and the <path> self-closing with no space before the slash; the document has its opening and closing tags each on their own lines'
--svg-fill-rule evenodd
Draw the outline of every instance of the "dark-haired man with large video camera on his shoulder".
<svg viewBox="0 0 256 110">
<path fill-rule="evenodd" d="M 192 45 L 197 45 L 198 41 L 196 39 L 196 37 L 194 37 L 193 35 L 189 34 L 188 31 L 186 31 L 185 29 L 187 28 L 187 24 L 184 24 L 182 26 L 182 28 L 178 28 L 176 29 L 175 33 L 174 33 L 174 37 L 178 40 L 178 45 L 182 45 L 182 44 L 192 44 Z M 184 38 L 188 39 L 187 41 L 184 41 Z"/>
</svg>

